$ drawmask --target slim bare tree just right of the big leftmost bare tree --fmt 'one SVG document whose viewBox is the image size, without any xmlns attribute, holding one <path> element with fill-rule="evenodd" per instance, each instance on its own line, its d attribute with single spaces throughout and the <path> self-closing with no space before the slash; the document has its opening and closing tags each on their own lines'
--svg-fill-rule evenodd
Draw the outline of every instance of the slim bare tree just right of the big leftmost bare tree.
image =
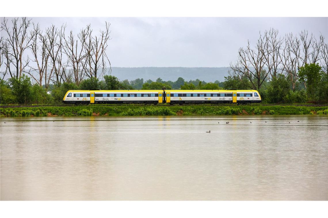
<svg viewBox="0 0 328 218">
<path fill-rule="evenodd" d="M 31 30 L 31 52 L 32 57 L 29 58 L 32 63 L 35 63 L 36 67 L 33 65 L 28 65 L 30 67 L 29 71 L 25 71 L 28 73 L 36 83 L 42 86 L 43 77 L 47 74 L 47 67 L 48 67 L 48 59 L 49 53 L 46 49 L 47 38 L 42 35 L 42 31 L 40 30 L 39 24 L 33 24 L 33 30 Z M 34 76 L 34 73 L 37 75 Z M 47 77 L 46 77 L 47 79 Z M 45 81 L 47 82 L 47 81 Z M 47 83 L 46 83 L 47 86 Z"/>
</svg>

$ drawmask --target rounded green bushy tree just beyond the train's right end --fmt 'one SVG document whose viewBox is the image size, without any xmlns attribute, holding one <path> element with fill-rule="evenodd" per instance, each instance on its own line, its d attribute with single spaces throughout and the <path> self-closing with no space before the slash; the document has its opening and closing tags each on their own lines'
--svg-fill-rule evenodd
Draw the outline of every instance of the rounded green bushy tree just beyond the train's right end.
<svg viewBox="0 0 328 218">
<path fill-rule="evenodd" d="M 269 103 L 279 103 L 283 102 L 285 96 L 290 90 L 290 81 L 285 78 L 284 75 L 277 75 L 272 77 L 270 85 L 267 89 L 267 99 Z"/>
</svg>

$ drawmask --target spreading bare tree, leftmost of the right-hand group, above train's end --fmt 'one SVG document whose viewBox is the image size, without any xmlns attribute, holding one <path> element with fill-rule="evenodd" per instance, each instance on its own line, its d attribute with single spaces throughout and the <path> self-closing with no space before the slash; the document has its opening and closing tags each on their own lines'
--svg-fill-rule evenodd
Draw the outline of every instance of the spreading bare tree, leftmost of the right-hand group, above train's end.
<svg viewBox="0 0 328 218">
<path fill-rule="evenodd" d="M 248 41 L 246 49 L 239 49 L 236 64 L 230 64 L 233 71 L 239 72 L 249 79 L 253 89 L 259 89 L 269 74 L 264 69 L 266 60 L 263 52 L 266 43 L 265 40 L 266 37 L 260 34 L 255 49 L 251 48 L 250 42 Z"/>
</svg>

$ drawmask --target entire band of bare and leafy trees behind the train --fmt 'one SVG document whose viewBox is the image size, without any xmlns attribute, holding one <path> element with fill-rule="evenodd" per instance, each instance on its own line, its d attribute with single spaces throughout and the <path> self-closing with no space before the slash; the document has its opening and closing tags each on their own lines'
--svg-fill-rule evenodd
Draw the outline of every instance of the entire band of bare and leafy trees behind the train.
<svg viewBox="0 0 328 218">
<path fill-rule="evenodd" d="M 61 104 L 68 90 L 255 89 L 262 103 L 327 103 L 328 44 L 307 31 L 281 36 L 270 29 L 248 41 L 230 64 L 224 81 L 200 79 L 120 81 L 111 75 L 107 56 L 110 24 L 91 25 L 74 35 L 66 25 L 43 32 L 29 18 L 4 19 L 0 25 L 0 104 Z M 101 42 L 101 43 L 100 43 Z M 74 47 L 75 49 L 71 49 Z M 27 57 L 27 54 L 31 54 Z M 164 75 L 163 75 L 164 76 Z M 8 78 L 4 80 L 4 78 Z M 206 82 L 205 82 L 206 80 Z"/>
</svg>

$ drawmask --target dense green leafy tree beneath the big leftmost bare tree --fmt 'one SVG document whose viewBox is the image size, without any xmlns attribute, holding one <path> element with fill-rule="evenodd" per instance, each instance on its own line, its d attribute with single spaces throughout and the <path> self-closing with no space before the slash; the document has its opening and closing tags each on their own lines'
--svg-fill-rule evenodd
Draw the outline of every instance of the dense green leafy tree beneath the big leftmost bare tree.
<svg viewBox="0 0 328 218">
<path fill-rule="evenodd" d="M 14 95 L 18 104 L 28 104 L 32 99 L 32 84 L 30 77 L 23 74 L 19 78 L 9 79 Z"/>
</svg>

